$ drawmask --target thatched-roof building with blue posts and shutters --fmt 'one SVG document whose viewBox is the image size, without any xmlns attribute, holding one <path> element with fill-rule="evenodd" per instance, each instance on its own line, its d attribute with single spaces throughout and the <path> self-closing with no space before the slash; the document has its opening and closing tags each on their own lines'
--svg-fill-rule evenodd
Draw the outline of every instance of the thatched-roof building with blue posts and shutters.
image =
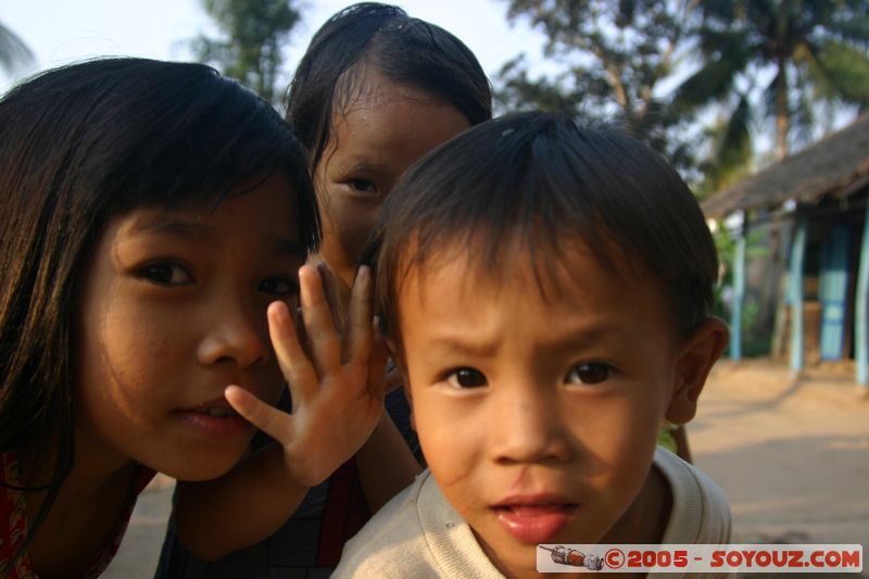
<svg viewBox="0 0 869 579">
<path fill-rule="evenodd" d="M 741 223 L 733 263 L 731 357 L 742 355 L 745 256 L 781 251 L 767 275 L 779 315 L 773 341 L 799 372 L 806 356 L 854 358 L 869 383 L 869 114 L 703 203 L 707 217 Z M 781 274 L 781 275 L 779 275 Z M 781 281 L 780 281 L 781 280 Z M 773 347 L 773 351 L 778 348 Z"/>
</svg>

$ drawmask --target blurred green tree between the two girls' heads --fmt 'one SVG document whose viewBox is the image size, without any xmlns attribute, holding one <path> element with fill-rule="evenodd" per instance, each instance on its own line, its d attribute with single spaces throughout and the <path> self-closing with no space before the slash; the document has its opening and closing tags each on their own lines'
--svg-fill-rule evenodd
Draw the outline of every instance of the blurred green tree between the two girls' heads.
<svg viewBox="0 0 869 579">
<path fill-rule="evenodd" d="M 221 32 L 200 35 L 191 48 L 201 62 L 279 104 L 287 80 L 281 78 L 284 48 L 300 21 L 291 0 L 203 0 Z"/>
</svg>

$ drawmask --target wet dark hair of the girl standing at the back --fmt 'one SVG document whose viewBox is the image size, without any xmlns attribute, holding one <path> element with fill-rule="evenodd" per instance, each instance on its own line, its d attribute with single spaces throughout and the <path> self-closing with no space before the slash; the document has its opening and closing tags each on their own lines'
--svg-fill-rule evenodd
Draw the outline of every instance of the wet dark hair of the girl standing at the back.
<svg viewBox="0 0 869 579">
<path fill-rule="evenodd" d="M 362 2 L 335 14 L 314 35 L 287 96 L 287 118 L 317 167 L 332 118 L 358 83 L 361 65 L 439 97 L 471 125 L 492 117 L 492 90 L 474 53 L 443 28 L 402 9 Z"/>
</svg>

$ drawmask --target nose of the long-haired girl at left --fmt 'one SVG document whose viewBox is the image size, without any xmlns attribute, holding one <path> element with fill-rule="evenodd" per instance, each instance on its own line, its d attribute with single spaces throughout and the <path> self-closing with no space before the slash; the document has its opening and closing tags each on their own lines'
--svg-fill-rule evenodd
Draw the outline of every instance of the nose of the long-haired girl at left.
<svg viewBox="0 0 869 579">
<path fill-rule="evenodd" d="M 240 368 L 268 361 L 272 347 L 265 310 L 241 303 L 224 304 L 212 319 L 198 356 L 203 365 L 234 363 Z"/>
</svg>

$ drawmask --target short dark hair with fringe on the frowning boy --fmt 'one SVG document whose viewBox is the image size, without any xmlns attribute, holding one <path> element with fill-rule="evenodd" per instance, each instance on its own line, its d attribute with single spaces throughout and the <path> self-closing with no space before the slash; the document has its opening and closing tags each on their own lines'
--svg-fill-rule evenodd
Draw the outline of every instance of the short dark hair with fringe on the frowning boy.
<svg viewBox="0 0 869 579">
<path fill-rule="evenodd" d="M 577 236 L 603 264 L 614 267 L 620 252 L 656 276 L 681 335 L 710 314 L 715 243 L 676 171 L 620 131 L 521 113 L 442 144 L 385 201 L 365 257 L 376 256 L 386 335 L 401 349 L 398 299 L 408 268 L 454 251 L 498 276 L 521 259 L 505 248 L 527 248 L 540 280 L 541 268 L 552 274 L 564 263 Z"/>
</svg>

